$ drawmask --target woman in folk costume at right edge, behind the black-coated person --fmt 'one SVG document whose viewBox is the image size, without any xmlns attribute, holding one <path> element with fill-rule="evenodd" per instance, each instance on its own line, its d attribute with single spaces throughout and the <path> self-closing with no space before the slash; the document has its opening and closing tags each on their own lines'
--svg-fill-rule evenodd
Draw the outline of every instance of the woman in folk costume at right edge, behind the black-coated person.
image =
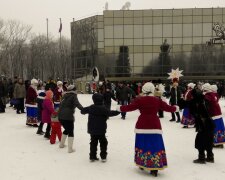
<svg viewBox="0 0 225 180">
<path fill-rule="evenodd" d="M 215 125 L 214 147 L 223 148 L 223 144 L 225 143 L 225 128 L 221 108 L 218 102 L 219 95 L 217 94 L 217 86 L 211 85 L 210 87 L 206 87 L 205 85 L 203 88 L 206 90 L 205 100 L 208 105 L 209 115 L 212 117 Z"/>
</svg>

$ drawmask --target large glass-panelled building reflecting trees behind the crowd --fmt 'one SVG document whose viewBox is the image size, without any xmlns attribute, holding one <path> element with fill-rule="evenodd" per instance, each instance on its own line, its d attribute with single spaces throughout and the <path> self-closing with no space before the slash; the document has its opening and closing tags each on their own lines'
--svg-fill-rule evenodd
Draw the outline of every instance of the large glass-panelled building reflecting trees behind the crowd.
<svg viewBox="0 0 225 180">
<path fill-rule="evenodd" d="M 225 79 L 225 8 L 106 10 L 71 23 L 74 77 Z"/>
</svg>

